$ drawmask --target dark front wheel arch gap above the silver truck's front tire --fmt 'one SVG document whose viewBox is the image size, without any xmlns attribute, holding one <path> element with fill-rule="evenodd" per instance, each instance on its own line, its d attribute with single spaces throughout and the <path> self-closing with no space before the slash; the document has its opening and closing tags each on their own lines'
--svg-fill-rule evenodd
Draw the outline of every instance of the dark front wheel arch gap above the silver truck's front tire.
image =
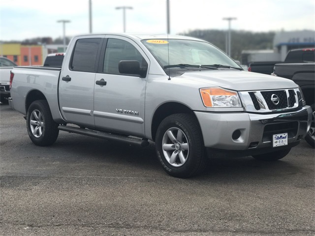
<svg viewBox="0 0 315 236">
<path fill-rule="evenodd" d="M 153 141 L 156 139 L 156 134 L 158 130 L 159 124 L 162 120 L 170 115 L 177 114 L 177 113 L 188 113 L 196 117 L 194 112 L 186 105 L 179 103 L 179 102 L 167 102 L 161 104 L 158 109 L 155 111 L 152 123 L 151 123 L 151 135 Z M 198 120 L 198 119 L 197 119 Z"/>
</svg>

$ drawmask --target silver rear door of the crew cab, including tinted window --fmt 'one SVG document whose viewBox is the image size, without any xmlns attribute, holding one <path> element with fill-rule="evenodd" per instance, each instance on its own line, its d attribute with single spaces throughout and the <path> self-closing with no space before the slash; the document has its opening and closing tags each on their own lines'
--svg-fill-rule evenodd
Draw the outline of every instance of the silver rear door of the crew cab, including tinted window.
<svg viewBox="0 0 315 236">
<path fill-rule="evenodd" d="M 59 103 L 69 123 L 95 127 L 94 85 L 104 36 L 82 36 L 70 44 L 60 75 Z"/>
</svg>

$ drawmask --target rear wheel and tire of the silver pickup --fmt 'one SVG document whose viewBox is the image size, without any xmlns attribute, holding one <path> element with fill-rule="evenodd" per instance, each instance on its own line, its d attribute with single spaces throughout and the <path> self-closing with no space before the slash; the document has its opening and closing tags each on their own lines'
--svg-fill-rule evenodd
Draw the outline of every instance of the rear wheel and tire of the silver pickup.
<svg viewBox="0 0 315 236">
<path fill-rule="evenodd" d="M 32 102 L 26 119 L 28 134 L 37 146 L 50 146 L 58 138 L 58 124 L 53 120 L 46 100 Z"/>
</svg>

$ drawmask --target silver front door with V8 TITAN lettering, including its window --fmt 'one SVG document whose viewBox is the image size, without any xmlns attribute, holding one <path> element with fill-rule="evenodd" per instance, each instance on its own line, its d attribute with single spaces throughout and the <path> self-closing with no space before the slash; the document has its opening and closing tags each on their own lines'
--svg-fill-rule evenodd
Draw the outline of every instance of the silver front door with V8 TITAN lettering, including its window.
<svg viewBox="0 0 315 236">
<path fill-rule="evenodd" d="M 95 76 L 95 127 L 118 133 L 144 135 L 144 105 L 147 78 L 121 74 L 121 60 L 138 60 L 147 66 L 149 59 L 131 39 L 106 36 Z"/>
</svg>

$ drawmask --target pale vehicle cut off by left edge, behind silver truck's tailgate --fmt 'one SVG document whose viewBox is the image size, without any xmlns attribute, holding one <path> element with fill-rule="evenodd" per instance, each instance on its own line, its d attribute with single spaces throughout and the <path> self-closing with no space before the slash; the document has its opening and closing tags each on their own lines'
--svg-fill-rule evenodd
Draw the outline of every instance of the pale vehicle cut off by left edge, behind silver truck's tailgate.
<svg viewBox="0 0 315 236">
<path fill-rule="evenodd" d="M 10 97 L 10 71 L 17 66 L 13 61 L 0 57 L 0 102 L 7 103 Z"/>
</svg>

